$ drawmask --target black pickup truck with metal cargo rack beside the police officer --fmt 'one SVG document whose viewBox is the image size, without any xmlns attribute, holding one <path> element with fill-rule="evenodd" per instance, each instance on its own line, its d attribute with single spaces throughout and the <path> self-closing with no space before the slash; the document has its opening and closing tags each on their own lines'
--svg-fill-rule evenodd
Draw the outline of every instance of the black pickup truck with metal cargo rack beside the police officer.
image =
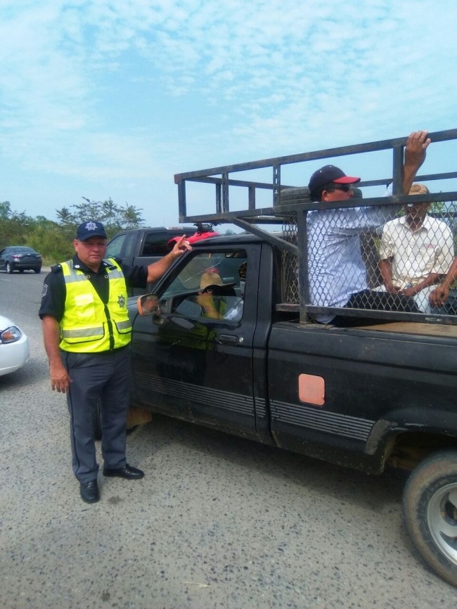
<svg viewBox="0 0 457 609">
<path fill-rule="evenodd" d="M 432 140 L 440 135 L 452 139 L 457 131 Z M 385 141 L 377 149 L 400 148 L 402 158 L 404 143 Z M 236 170 L 176 176 L 181 219 L 196 219 L 186 217 L 186 181 L 221 174 L 211 180 L 225 192 L 228 171 Z M 295 213 L 304 243 L 300 214 L 316 204 L 290 197 L 284 204 L 278 181 L 271 190 L 280 196 L 262 210 L 255 210 L 252 192 L 245 212 L 229 212 L 226 194 L 218 199 L 221 206 L 205 220 L 251 226 L 257 234 L 196 243 L 154 295 L 139 299 L 141 314 L 132 312 L 132 404 L 366 473 L 381 473 L 387 464 L 412 470 L 404 490 L 406 528 L 430 568 L 457 586 L 456 317 L 371 312 L 371 323 L 360 326 L 313 321 L 302 248 L 284 226 Z M 440 194 L 447 201 L 456 195 Z M 281 236 L 259 229 L 262 219 L 279 219 Z M 205 274 L 218 276 L 226 290 L 214 297 L 224 304 L 217 315 L 202 300 Z"/>
</svg>

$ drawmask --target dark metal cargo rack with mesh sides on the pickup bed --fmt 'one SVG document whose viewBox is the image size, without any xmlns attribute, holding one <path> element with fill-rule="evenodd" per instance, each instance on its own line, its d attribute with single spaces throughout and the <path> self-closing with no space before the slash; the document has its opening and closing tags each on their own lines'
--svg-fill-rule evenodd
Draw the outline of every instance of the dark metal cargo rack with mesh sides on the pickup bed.
<svg viewBox="0 0 457 609">
<path fill-rule="evenodd" d="M 457 139 L 457 129 L 434 132 L 429 134 L 433 143 Z M 363 309 L 330 309 L 329 307 L 317 307 L 310 303 L 308 276 L 307 276 L 307 214 L 314 210 L 342 209 L 361 207 L 359 197 L 351 200 L 334 203 L 316 203 L 309 199 L 309 191 L 304 186 L 282 184 L 281 168 L 286 165 L 306 163 L 310 161 L 323 160 L 322 165 L 333 162 L 334 158 L 347 157 L 349 155 L 373 153 L 380 150 L 390 150 L 392 153 L 392 176 L 381 177 L 368 181 L 361 181 L 357 186 L 365 188 L 370 186 L 387 186 L 392 184 L 392 196 L 390 197 L 363 197 L 363 207 L 375 205 L 395 205 L 400 207 L 406 201 L 408 203 L 433 203 L 441 211 L 439 217 L 452 221 L 454 240 L 457 231 L 457 191 L 430 192 L 424 195 L 401 194 L 403 179 L 404 148 L 407 137 L 387 139 L 370 143 L 359 143 L 352 146 L 339 148 L 328 148 L 316 150 L 310 153 L 281 156 L 252 162 L 243 162 L 236 165 L 223 167 L 212 167 L 195 172 L 176 174 L 175 184 L 179 193 L 179 222 L 209 222 L 212 224 L 234 224 L 240 229 L 262 237 L 269 243 L 276 245 L 283 251 L 283 300 L 278 304 L 278 311 L 300 312 L 300 321 L 309 321 L 309 314 L 330 313 L 347 316 L 367 316 Z M 428 154 L 432 155 L 432 146 Z M 331 159 L 331 161 L 326 160 Z M 252 172 L 259 169 L 271 171 L 271 181 L 254 181 L 251 179 Z M 233 174 L 250 172 L 249 179 L 236 179 Z M 312 173 L 306 168 L 302 170 L 303 176 Z M 457 172 L 440 172 L 433 174 L 418 174 L 415 182 L 433 183 L 437 180 L 456 179 Z M 186 186 L 189 183 L 209 184 L 214 187 L 214 212 L 188 215 Z M 430 186 L 430 184 L 429 184 Z M 231 188 L 245 189 L 245 209 L 231 211 L 230 192 Z M 432 187 L 430 186 L 430 191 Z M 271 205 L 269 207 L 257 207 L 259 191 L 271 192 Z M 361 191 L 360 191 L 361 193 Z M 360 194 L 361 196 L 361 194 Z M 451 205 L 448 203 L 451 202 Z M 444 211 L 443 211 L 444 210 Z M 437 215 L 431 213 L 431 215 Z M 283 238 L 273 235 L 262 228 L 266 224 L 281 224 L 283 226 Z M 375 273 L 375 269 L 371 269 Z M 457 302 L 457 298 L 456 298 Z M 446 311 L 436 314 L 399 313 L 372 310 L 369 316 L 376 319 L 392 319 L 394 321 L 420 321 L 426 323 L 457 323 L 457 316 L 446 314 Z"/>
</svg>

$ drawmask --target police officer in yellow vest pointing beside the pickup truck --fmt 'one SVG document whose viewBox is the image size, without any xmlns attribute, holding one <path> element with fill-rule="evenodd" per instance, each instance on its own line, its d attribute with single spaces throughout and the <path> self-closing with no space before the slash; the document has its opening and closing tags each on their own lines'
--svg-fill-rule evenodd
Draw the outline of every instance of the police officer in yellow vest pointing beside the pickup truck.
<svg viewBox="0 0 457 609">
<path fill-rule="evenodd" d="M 67 394 L 73 472 L 83 501 L 95 503 L 98 492 L 93 412 L 100 400 L 103 475 L 138 480 L 143 472 L 125 456 L 129 409 L 131 323 L 127 284 L 145 287 L 156 281 L 184 251 L 185 236 L 171 252 L 148 267 L 126 267 L 105 259 L 103 224 L 79 225 L 75 255 L 56 264 L 44 280 L 39 316 L 49 358 L 51 388 Z"/>
</svg>

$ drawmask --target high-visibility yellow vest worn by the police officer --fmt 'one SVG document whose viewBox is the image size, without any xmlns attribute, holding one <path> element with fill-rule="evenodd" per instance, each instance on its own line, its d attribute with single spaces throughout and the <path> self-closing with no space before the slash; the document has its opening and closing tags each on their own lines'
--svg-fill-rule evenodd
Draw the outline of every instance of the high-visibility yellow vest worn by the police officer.
<svg viewBox="0 0 457 609">
<path fill-rule="evenodd" d="M 67 297 L 60 320 L 60 349 L 76 353 L 110 351 L 129 344 L 131 321 L 127 312 L 127 286 L 120 266 L 108 258 L 108 304 L 103 304 L 84 271 L 72 260 L 62 262 Z"/>
</svg>

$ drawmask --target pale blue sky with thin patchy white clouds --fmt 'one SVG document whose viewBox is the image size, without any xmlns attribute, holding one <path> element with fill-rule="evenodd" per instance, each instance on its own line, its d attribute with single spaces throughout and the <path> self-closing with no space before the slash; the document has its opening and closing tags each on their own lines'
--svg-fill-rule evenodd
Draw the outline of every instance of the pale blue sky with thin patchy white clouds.
<svg viewBox="0 0 457 609">
<path fill-rule="evenodd" d="M 111 197 L 176 225 L 175 173 L 457 127 L 454 0 L 0 7 L 0 200 L 31 216 Z"/>
</svg>

